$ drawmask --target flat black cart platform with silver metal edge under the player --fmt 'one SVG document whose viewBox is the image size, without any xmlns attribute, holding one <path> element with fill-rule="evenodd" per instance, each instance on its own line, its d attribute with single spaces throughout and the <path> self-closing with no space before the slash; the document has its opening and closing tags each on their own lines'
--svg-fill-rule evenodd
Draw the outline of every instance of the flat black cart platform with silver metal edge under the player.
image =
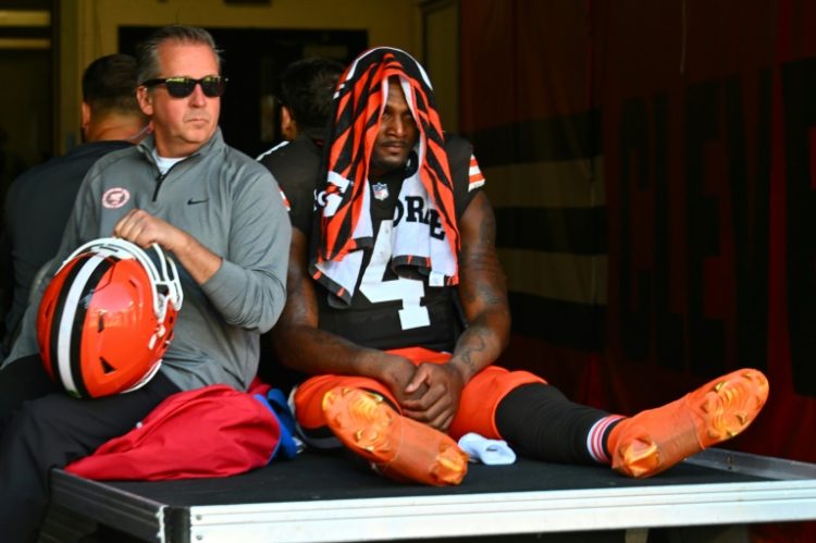
<svg viewBox="0 0 816 543">
<path fill-rule="evenodd" d="M 154 542 L 317 542 L 485 536 L 816 519 L 816 465 L 709 449 L 647 480 L 520 459 L 465 482 L 382 479 L 307 453 L 226 479 L 95 482 L 64 471 L 53 509 Z M 67 514 L 67 517 L 64 515 Z M 48 525 L 44 531 L 48 540 Z M 60 536 L 52 538 L 60 540 Z"/>
</svg>

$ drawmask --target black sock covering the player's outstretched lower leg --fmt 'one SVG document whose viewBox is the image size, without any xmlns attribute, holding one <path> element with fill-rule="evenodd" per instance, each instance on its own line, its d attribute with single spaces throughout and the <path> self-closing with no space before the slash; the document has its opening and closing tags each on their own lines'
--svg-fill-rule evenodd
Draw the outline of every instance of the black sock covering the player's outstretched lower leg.
<svg viewBox="0 0 816 543">
<path fill-rule="evenodd" d="M 595 464 L 586 439 L 606 411 L 576 404 L 558 388 L 531 383 L 510 391 L 496 408 L 502 439 L 522 456 L 546 461 Z M 610 428 L 604 435 L 604 447 Z"/>
</svg>

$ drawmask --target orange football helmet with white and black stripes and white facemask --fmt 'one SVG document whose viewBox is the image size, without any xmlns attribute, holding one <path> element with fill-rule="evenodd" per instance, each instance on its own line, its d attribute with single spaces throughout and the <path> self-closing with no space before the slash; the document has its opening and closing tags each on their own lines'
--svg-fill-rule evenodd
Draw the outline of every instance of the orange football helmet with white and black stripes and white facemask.
<svg viewBox="0 0 816 543">
<path fill-rule="evenodd" d="M 147 383 L 173 337 L 184 295 L 173 260 L 123 239 L 76 249 L 42 295 L 37 342 L 46 371 L 69 394 L 100 397 Z"/>
</svg>

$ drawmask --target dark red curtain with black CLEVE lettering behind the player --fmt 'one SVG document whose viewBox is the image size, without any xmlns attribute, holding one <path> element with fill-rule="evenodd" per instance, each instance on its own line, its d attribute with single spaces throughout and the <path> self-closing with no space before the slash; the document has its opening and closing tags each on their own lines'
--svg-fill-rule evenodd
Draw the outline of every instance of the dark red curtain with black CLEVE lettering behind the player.
<svg viewBox="0 0 816 543">
<path fill-rule="evenodd" d="M 729 446 L 816 461 L 816 4 L 459 9 L 461 126 L 503 202 L 498 230 L 530 231 L 533 213 L 531 237 L 545 235 L 544 218 L 566 225 L 560 240 L 499 235 L 516 326 L 503 363 L 622 414 L 756 367 L 769 403 Z M 589 174 L 564 169 L 582 161 Z M 503 194 L 553 183 L 509 178 L 524 163 L 560 172 L 560 189 L 589 175 L 603 198 L 551 194 L 531 210 Z M 540 292 L 514 289 L 529 273 L 519 262 L 554 255 L 605 262 L 593 268 L 604 295 L 561 296 L 546 268 Z"/>
</svg>

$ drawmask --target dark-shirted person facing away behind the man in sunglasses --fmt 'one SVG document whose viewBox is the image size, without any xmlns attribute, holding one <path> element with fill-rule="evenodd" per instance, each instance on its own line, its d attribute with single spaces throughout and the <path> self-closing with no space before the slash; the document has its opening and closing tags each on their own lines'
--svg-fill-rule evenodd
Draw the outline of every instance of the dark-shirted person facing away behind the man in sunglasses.
<svg viewBox="0 0 816 543">
<path fill-rule="evenodd" d="M 3 289 L 11 293 L 4 318 L 7 355 L 28 305 L 37 272 L 53 257 L 91 165 L 110 151 L 129 147 L 148 134 L 148 119 L 136 101 L 136 59 L 109 54 L 83 74 L 83 145 L 17 177 L 5 200 L 0 260 L 9 264 Z"/>
</svg>

